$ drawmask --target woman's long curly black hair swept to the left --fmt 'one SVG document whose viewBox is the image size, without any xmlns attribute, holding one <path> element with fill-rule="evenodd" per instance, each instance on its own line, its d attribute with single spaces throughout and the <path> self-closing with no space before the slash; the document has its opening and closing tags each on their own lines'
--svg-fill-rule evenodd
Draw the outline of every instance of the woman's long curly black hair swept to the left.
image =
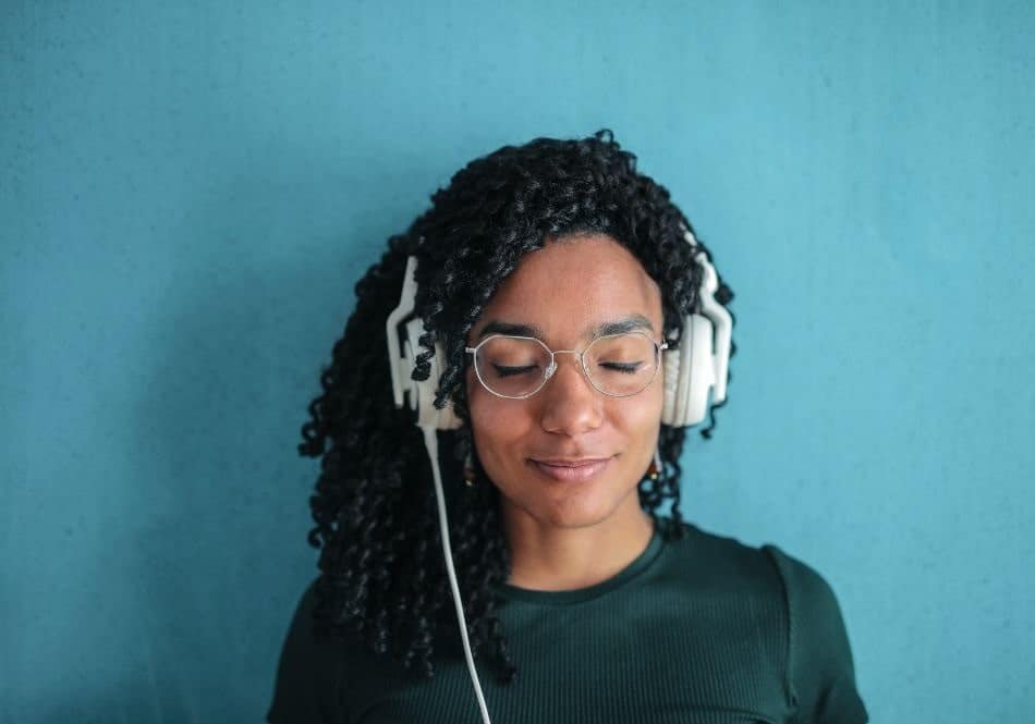
<svg viewBox="0 0 1035 724">
<path fill-rule="evenodd" d="M 679 338 L 697 305 L 703 269 L 684 241 L 690 221 L 666 188 L 636 171 L 636 158 L 608 131 L 581 140 L 537 138 L 506 146 L 459 171 L 431 197 L 431 207 L 392 236 L 380 261 L 356 284 L 356 307 L 320 376 L 322 393 L 308 407 L 299 452 L 321 457 L 309 499 L 321 549 L 316 625 L 320 635 L 350 638 L 430 677 L 433 660 L 455 654 L 456 623 L 441 555 L 430 465 L 407 409 L 392 404 L 385 322 L 399 303 L 409 256 L 418 259 L 415 314 L 427 333 L 415 379 L 427 379 L 436 342 L 446 353 L 436 405 L 452 403 L 464 426 L 440 431 L 450 510 L 450 540 L 476 655 L 500 680 L 516 673 L 508 653 L 495 589 L 510 559 L 499 493 L 474 454 L 466 398 L 467 333 L 520 259 L 547 240 L 601 233 L 626 247 L 657 282 L 665 335 Z M 710 259 L 710 253 L 701 249 Z M 733 293 L 719 280 L 716 299 Z M 735 347 L 734 347 L 735 349 Z M 702 430 L 710 437 L 714 417 Z M 663 463 L 645 476 L 640 500 L 667 537 L 682 532 L 680 454 L 684 428 L 661 426 Z M 461 461 L 474 458 L 476 483 L 462 480 Z M 450 481 L 455 481 L 449 484 Z M 657 516 L 670 501 L 668 520 Z M 663 525 L 662 525 L 663 524 Z M 450 647 L 452 646 L 452 651 Z"/>
</svg>

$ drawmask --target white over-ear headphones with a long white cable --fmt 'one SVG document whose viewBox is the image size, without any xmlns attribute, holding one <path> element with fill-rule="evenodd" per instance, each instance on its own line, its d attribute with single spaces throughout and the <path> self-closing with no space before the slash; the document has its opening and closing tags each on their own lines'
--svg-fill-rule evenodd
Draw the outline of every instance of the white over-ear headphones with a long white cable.
<svg viewBox="0 0 1035 724">
<path fill-rule="evenodd" d="M 683 230 L 686 243 L 698 248 L 697 240 L 689 229 Z M 708 414 L 708 395 L 711 403 L 726 400 L 726 383 L 730 363 L 730 340 L 733 319 L 722 305 L 715 300 L 719 287 L 719 278 L 703 249 L 698 249 L 694 259 L 704 267 L 704 279 L 698 291 L 699 311 L 683 319 L 682 338 L 672 348 L 662 353 L 665 367 L 665 407 L 661 421 L 666 425 L 687 427 L 704 421 Z M 409 402 L 410 408 L 417 414 L 417 427 L 424 433 L 424 445 L 431 462 L 431 478 L 435 484 L 435 498 L 438 503 L 438 523 L 442 539 L 442 554 L 446 561 L 446 574 L 452 592 L 456 621 L 460 625 L 460 638 L 463 642 L 467 672 L 474 685 L 475 698 L 484 724 L 491 724 L 485 695 L 474 665 L 471 642 L 467 638 L 467 624 L 464 618 L 463 600 L 456 584 L 452 548 L 449 543 L 449 520 L 446 514 L 446 495 L 442 492 L 442 474 L 438 466 L 437 430 L 455 430 L 461 426 L 460 418 L 453 413 L 452 405 L 442 409 L 435 407 L 435 392 L 438 380 L 446 366 L 446 355 L 441 342 L 435 345 L 431 358 L 431 373 L 426 380 L 414 380 L 413 370 L 419 354 L 419 339 L 425 333 L 424 321 L 412 318 L 402 327 L 404 319 L 413 314 L 417 294 L 416 257 L 406 261 L 406 271 L 402 284 L 399 306 L 385 322 L 388 335 L 388 365 L 392 378 L 392 396 L 395 407 Z M 400 334 L 404 336 L 400 346 Z"/>
</svg>

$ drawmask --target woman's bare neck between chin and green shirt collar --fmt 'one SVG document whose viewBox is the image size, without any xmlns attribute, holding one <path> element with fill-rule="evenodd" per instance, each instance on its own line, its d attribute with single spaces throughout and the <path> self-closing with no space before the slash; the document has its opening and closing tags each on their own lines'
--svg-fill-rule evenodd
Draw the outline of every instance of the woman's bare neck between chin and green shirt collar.
<svg viewBox="0 0 1035 724">
<path fill-rule="evenodd" d="M 524 511 L 503 505 L 510 547 L 512 586 L 539 591 L 564 591 L 611 578 L 644 552 L 654 521 L 633 505 L 595 525 L 560 527 L 536 520 Z"/>
</svg>

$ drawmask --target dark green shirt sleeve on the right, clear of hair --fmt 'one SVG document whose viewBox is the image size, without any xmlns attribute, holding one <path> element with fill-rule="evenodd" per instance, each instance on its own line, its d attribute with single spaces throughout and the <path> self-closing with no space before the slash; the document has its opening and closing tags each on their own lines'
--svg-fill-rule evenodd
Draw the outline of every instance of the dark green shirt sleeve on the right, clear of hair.
<svg viewBox="0 0 1035 724">
<path fill-rule="evenodd" d="M 801 561 L 767 545 L 788 605 L 788 691 L 800 724 L 865 724 L 841 609 L 829 584 Z"/>
</svg>

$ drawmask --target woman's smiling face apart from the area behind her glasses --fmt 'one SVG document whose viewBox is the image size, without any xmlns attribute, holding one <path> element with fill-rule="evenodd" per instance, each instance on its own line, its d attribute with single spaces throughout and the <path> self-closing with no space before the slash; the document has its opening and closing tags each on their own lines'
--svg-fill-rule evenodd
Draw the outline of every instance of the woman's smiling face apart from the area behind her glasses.
<svg viewBox="0 0 1035 724">
<path fill-rule="evenodd" d="M 500 285 L 467 342 L 524 327 L 551 349 L 585 349 L 604 324 L 633 321 L 661 339 L 661 297 L 640 261 L 601 234 L 549 242 Z M 575 528 L 641 516 L 636 487 L 661 420 L 662 372 L 638 394 L 609 397 L 575 355 L 525 400 L 488 392 L 467 370 L 467 402 L 482 466 L 502 493 L 504 518 Z"/>
</svg>

